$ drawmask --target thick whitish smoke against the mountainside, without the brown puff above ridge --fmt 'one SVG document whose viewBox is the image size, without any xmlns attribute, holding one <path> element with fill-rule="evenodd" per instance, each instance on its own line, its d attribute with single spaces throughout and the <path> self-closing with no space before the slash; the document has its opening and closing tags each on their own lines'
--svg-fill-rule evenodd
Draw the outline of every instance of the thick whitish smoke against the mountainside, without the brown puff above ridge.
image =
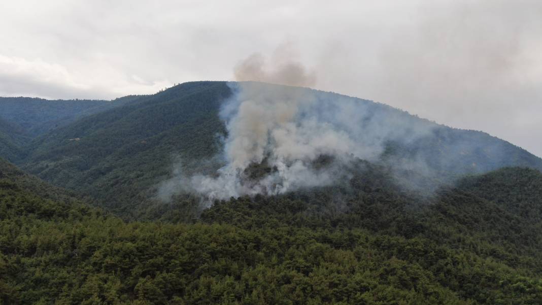
<svg viewBox="0 0 542 305">
<path fill-rule="evenodd" d="M 233 97 L 220 111 L 228 131 L 225 165 L 215 176 L 176 178 L 211 200 L 331 185 L 348 178 L 344 168 L 353 159 L 376 161 L 388 141 L 413 141 L 434 126 L 405 121 L 391 108 L 384 117 L 370 101 L 337 94 L 258 82 L 229 86 Z"/>
</svg>

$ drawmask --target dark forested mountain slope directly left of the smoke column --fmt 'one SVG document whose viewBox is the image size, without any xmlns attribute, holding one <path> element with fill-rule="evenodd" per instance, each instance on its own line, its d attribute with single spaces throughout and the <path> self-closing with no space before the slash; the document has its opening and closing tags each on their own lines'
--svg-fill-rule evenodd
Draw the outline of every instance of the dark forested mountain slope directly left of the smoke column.
<svg viewBox="0 0 542 305">
<path fill-rule="evenodd" d="M 229 94 L 225 83 L 187 83 L 83 118 L 37 139 L 23 167 L 110 207 L 140 202 L 138 194 L 165 179 L 174 158 L 217 152 L 224 128 L 216 112 Z"/>
</svg>

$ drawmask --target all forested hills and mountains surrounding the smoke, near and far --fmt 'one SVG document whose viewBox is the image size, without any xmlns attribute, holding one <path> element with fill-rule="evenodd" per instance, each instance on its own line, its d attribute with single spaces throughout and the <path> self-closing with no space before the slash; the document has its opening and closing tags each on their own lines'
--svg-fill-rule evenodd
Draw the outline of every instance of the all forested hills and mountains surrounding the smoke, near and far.
<svg viewBox="0 0 542 305">
<path fill-rule="evenodd" d="M 0 99 L 0 304 L 540 304 L 542 159 L 314 93 L 430 132 L 385 142 L 377 161 L 349 159 L 334 184 L 164 199 L 177 172 L 223 165 L 227 83 Z M 420 160 L 430 174 L 396 167 Z M 244 175 L 272 171 L 262 161 Z"/>
</svg>

